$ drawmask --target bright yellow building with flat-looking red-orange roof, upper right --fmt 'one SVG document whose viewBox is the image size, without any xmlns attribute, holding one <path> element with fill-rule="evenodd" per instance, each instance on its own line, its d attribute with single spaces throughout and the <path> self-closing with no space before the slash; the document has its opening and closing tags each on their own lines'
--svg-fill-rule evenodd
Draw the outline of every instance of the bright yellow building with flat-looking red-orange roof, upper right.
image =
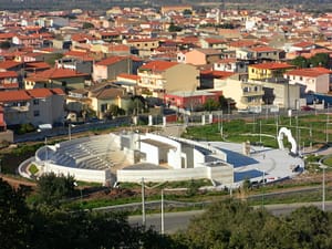
<svg viewBox="0 0 332 249">
<path fill-rule="evenodd" d="M 248 66 L 249 80 L 266 80 L 273 77 L 283 77 L 283 73 L 288 70 L 294 69 L 294 65 L 281 62 L 268 62 L 260 64 L 252 64 Z"/>
</svg>

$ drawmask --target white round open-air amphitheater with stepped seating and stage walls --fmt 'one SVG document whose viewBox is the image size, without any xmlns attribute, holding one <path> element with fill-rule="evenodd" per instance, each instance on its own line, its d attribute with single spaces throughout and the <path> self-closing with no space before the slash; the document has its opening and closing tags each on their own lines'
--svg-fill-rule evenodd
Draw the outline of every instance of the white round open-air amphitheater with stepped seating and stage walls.
<svg viewBox="0 0 332 249">
<path fill-rule="evenodd" d="M 135 132 L 71 139 L 39 148 L 31 163 L 40 173 L 72 175 L 76 180 L 172 181 L 209 178 L 230 185 L 234 167 L 227 154 L 209 144 Z"/>
</svg>

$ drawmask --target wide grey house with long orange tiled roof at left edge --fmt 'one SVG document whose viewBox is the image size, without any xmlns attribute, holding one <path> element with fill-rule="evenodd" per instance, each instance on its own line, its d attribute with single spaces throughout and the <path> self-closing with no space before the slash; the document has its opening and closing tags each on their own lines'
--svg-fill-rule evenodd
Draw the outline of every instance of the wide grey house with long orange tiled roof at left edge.
<svg viewBox="0 0 332 249">
<path fill-rule="evenodd" d="M 0 92 L 7 125 L 62 123 L 64 97 L 61 89 L 35 89 Z"/>
</svg>

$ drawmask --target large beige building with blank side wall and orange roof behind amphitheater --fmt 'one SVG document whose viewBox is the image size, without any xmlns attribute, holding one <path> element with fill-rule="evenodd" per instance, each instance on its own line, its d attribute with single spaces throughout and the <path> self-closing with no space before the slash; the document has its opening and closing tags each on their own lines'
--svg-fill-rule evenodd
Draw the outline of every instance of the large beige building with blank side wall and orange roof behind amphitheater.
<svg viewBox="0 0 332 249">
<path fill-rule="evenodd" d="M 169 92 L 195 91 L 199 84 L 199 70 L 177 62 L 152 61 L 142 65 L 137 75 L 141 77 L 138 86 L 155 97 Z"/>
</svg>

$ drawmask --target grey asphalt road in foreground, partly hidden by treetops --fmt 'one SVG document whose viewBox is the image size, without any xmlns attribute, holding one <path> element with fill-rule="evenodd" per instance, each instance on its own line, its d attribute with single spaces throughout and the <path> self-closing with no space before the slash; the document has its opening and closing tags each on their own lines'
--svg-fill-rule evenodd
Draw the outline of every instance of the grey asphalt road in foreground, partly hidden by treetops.
<svg viewBox="0 0 332 249">
<path fill-rule="evenodd" d="M 322 203 L 266 205 L 264 208 L 276 216 L 282 216 L 302 206 L 317 206 L 321 208 Z M 256 206 L 255 208 L 260 208 L 260 206 Z M 325 203 L 325 210 L 332 211 L 332 201 Z M 200 216 L 203 212 L 204 210 L 193 210 L 165 214 L 165 234 L 174 234 L 178 230 L 186 229 L 190 220 L 194 217 Z M 129 216 L 128 221 L 131 225 L 142 225 L 142 216 Z M 160 232 L 160 214 L 146 215 L 146 227 L 153 227 L 153 229 L 158 232 Z"/>
</svg>

